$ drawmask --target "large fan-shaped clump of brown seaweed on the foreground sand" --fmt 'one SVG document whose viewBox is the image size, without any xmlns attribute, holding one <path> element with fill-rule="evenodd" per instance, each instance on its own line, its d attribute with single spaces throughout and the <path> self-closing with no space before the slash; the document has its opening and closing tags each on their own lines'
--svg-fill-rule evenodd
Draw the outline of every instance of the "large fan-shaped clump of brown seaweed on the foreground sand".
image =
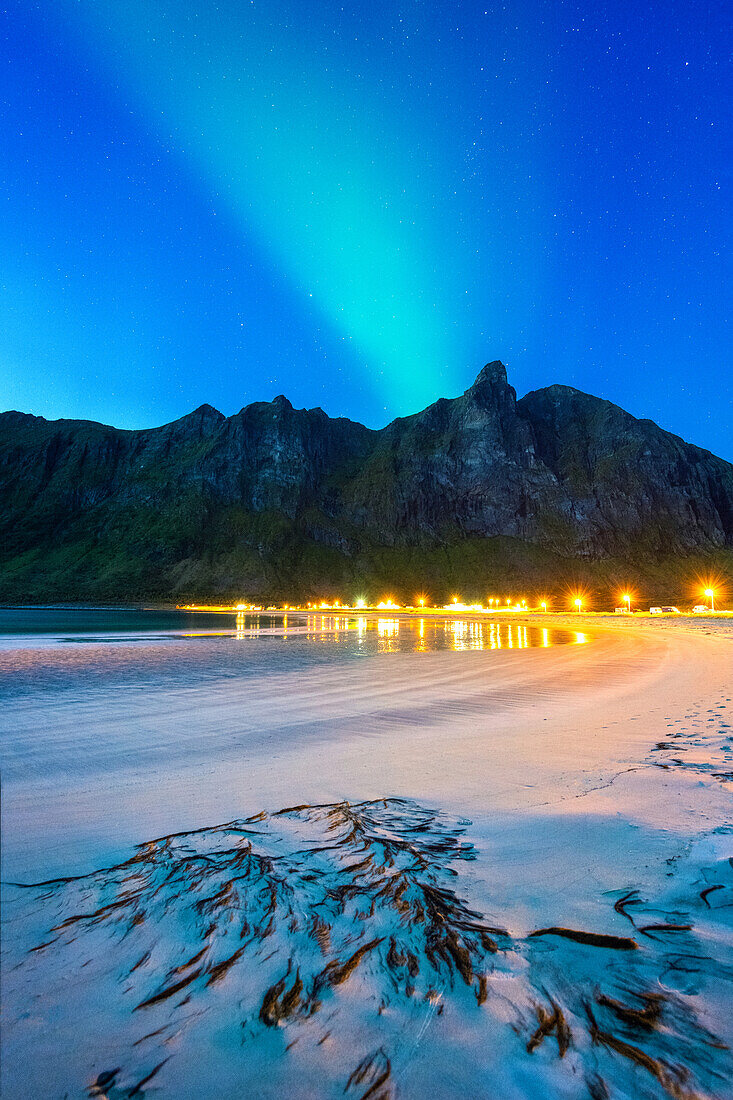
<svg viewBox="0 0 733 1100">
<path fill-rule="evenodd" d="M 475 1007 L 510 939 L 453 890 L 455 865 L 475 855 L 464 832 L 387 799 L 294 806 L 158 837 L 113 867 L 35 888 L 56 915 L 25 965 L 72 958 L 92 938 L 103 945 L 120 1000 L 146 1023 L 120 1050 L 124 1071 L 108 1082 L 116 1097 L 144 1088 L 150 1055 L 168 1042 L 168 1027 L 208 1011 L 211 987 L 231 996 L 248 1043 L 258 1028 L 332 1014 L 353 983 L 374 1015 L 395 998 L 427 1003 L 436 985 L 471 988 Z M 372 1058 L 369 1071 L 368 1062 L 341 1088 L 363 1082 L 363 1096 L 386 1096 L 389 1057 Z M 103 1075 L 91 1090 L 102 1087 Z"/>
</svg>

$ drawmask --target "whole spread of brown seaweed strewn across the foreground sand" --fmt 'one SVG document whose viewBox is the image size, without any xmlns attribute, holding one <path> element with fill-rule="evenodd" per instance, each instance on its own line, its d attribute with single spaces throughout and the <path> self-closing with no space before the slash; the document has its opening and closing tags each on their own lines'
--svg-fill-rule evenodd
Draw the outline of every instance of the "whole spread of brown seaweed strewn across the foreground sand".
<svg viewBox="0 0 733 1100">
<path fill-rule="evenodd" d="M 501 1057 L 530 1058 L 538 1074 L 564 1059 L 594 1098 L 611 1094 L 606 1080 L 630 1087 L 635 1072 L 654 1082 L 650 1094 L 714 1094 L 729 1052 L 659 985 L 677 965 L 669 943 L 689 944 L 691 926 L 630 890 L 611 919 L 630 921 L 638 942 L 562 925 L 512 938 L 464 900 L 468 884 L 457 890 L 475 858 L 467 825 L 385 799 L 158 837 L 113 867 L 23 888 L 37 938 L 12 980 L 26 975 L 46 997 L 76 972 L 89 1002 L 114 1002 L 116 1068 L 90 1060 L 86 1077 L 100 1100 L 179 1094 L 182 1053 L 208 1049 L 225 1030 L 236 1035 L 230 1058 L 245 1052 L 240 1066 L 292 1064 L 291 1082 L 307 1066 L 319 1096 L 386 1100 L 403 1048 L 428 1026 L 440 1042 L 436 1021 L 448 1018 L 448 1034 L 471 1036 L 474 1059 L 486 1058 L 490 1037 Z M 31 927 L 26 915 L 20 906 Z M 512 1027 L 497 1037 L 507 1004 L 514 1046 Z M 284 1093 L 273 1085 L 258 1094 Z"/>
</svg>

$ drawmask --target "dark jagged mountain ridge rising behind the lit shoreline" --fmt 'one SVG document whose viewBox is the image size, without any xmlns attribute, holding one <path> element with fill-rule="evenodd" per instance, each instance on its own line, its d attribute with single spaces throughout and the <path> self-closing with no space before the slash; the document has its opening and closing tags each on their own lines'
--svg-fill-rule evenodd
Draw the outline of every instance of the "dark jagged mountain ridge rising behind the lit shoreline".
<svg viewBox="0 0 733 1100">
<path fill-rule="evenodd" d="M 500 362 L 378 431 L 283 396 L 141 431 L 0 415 L 4 601 L 671 592 L 699 561 L 733 561 L 733 465 L 569 386 L 517 400 Z"/>
</svg>

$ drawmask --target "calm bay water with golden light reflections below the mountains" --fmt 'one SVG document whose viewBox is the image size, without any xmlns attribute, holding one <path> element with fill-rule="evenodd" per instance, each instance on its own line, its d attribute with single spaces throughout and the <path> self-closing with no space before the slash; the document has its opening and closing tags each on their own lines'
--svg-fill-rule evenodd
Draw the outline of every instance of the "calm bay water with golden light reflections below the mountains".
<svg viewBox="0 0 733 1100">
<path fill-rule="evenodd" d="M 86 629 L 79 629 L 74 612 L 55 613 L 47 623 L 44 612 L 23 610 L 17 613 L 26 627 L 21 632 L 15 624 L 6 629 L 10 614 L 0 612 L 0 683 L 7 698 L 39 691 L 68 698 L 122 684 L 125 691 L 190 691 L 381 654 L 514 652 L 588 640 L 571 630 L 512 622 L 322 613 L 208 615 L 194 623 L 190 615 L 162 622 L 156 612 L 125 612 L 120 622 L 118 613 L 105 612 L 89 631 L 87 613 Z"/>
</svg>

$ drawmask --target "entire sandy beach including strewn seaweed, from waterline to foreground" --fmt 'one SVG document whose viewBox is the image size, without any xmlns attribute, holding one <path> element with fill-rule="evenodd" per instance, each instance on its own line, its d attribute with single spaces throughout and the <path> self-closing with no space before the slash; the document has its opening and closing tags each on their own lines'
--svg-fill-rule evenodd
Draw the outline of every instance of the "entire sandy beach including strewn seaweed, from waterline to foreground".
<svg viewBox="0 0 733 1100">
<path fill-rule="evenodd" d="M 3 879 L 64 879 L 4 888 L 3 1094 L 733 1094 L 733 624 L 524 625 L 204 692 L 0 652 Z"/>
</svg>

